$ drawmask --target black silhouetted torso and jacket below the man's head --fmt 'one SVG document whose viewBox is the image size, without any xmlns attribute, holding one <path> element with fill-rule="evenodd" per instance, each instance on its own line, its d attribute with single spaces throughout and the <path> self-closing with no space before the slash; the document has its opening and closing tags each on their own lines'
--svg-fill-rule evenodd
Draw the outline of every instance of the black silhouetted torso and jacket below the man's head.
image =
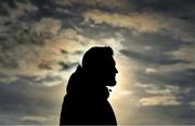
<svg viewBox="0 0 195 126">
<path fill-rule="evenodd" d="M 60 125 L 117 125 L 107 101 L 109 92 L 79 66 L 72 74 L 61 112 Z"/>
</svg>

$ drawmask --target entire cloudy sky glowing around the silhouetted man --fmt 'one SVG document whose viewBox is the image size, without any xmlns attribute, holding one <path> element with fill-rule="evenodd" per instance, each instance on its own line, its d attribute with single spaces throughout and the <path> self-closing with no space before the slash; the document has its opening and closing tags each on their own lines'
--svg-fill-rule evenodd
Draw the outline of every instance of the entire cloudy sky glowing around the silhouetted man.
<svg viewBox="0 0 195 126">
<path fill-rule="evenodd" d="M 110 46 L 118 124 L 195 124 L 194 0 L 0 0 L 0 124 L 57 125 L 69 75 Z"/>
</svg>

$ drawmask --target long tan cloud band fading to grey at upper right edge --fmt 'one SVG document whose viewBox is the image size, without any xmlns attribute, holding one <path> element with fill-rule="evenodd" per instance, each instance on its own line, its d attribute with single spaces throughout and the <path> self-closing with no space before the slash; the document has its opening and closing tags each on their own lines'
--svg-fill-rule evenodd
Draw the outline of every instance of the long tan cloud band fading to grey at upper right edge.
<svg viewBox="0 0 195 126">
<path fill-rule="evenodd" d="M 183 41 L 194 41 L 192 32 L 195 27 L 191 22 L 177 18 L 164 13 L 142 12 L 142 13 L 109 13 L 100 10 L 84 12 L 83 17 L 92 19 L 95 24 L 110 24 L 114 27 L 135 29 L 140 32 L 172 33 L 173 37 Z M 169 18 L 169 19 L 166 19 Z"/>
</svg>

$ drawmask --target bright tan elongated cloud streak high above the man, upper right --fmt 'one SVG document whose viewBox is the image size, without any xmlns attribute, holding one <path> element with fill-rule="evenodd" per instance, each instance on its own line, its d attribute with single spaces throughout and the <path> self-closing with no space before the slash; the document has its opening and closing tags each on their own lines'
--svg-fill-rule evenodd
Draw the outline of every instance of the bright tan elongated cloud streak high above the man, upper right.
<svg viewBox="0 0 195 126">
<path fill-rule="evenodd" d="M 122 28 L 134 28 L 140 31 L 156 32 L 160 29 L 161 25 L 158 20 L 154 20 L 156 15 L 154 14 L 119 14 L 119 13 L 108 13 L 100 10 L 92 10 L 83 13 L 83 17 L 93 19 L 96 24 L 107 23 L 116 27 Z M 143 22 L 144 20 L 144 22 Z"/>
</svg>

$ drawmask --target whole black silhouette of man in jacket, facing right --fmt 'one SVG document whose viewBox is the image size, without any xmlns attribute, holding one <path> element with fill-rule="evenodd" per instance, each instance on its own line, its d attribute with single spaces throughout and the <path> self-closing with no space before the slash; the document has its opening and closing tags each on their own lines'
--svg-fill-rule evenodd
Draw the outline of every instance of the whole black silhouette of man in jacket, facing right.
<svg viewBox="0 0 195 126">
<path fill-rule="evenodd" d="M 116 85 L 117 72 L 110 47 L 87 51 L 69 78 L 60 125 L 117 125 L 106 87 Z"/>
</svg>

